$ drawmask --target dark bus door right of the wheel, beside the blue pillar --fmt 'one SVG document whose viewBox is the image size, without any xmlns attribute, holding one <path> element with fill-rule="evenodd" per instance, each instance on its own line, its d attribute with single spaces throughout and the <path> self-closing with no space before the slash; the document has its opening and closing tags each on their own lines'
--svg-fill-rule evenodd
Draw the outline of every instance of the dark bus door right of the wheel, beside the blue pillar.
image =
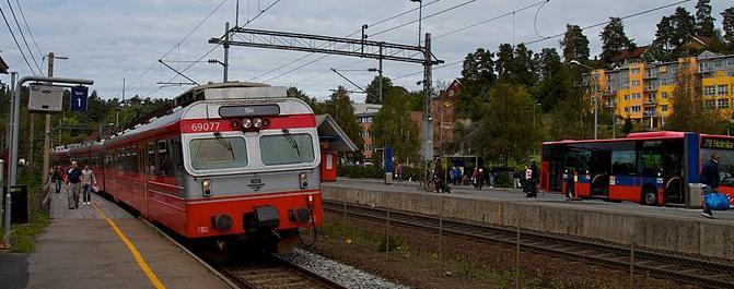
<svg viewBox="0 0 734 289">
<path fill-rule="evenodd" d="M 669 140 L 663 143 L 662 177 L 665 204 L 684 204 L 683 141 Z"/>
</svg>

